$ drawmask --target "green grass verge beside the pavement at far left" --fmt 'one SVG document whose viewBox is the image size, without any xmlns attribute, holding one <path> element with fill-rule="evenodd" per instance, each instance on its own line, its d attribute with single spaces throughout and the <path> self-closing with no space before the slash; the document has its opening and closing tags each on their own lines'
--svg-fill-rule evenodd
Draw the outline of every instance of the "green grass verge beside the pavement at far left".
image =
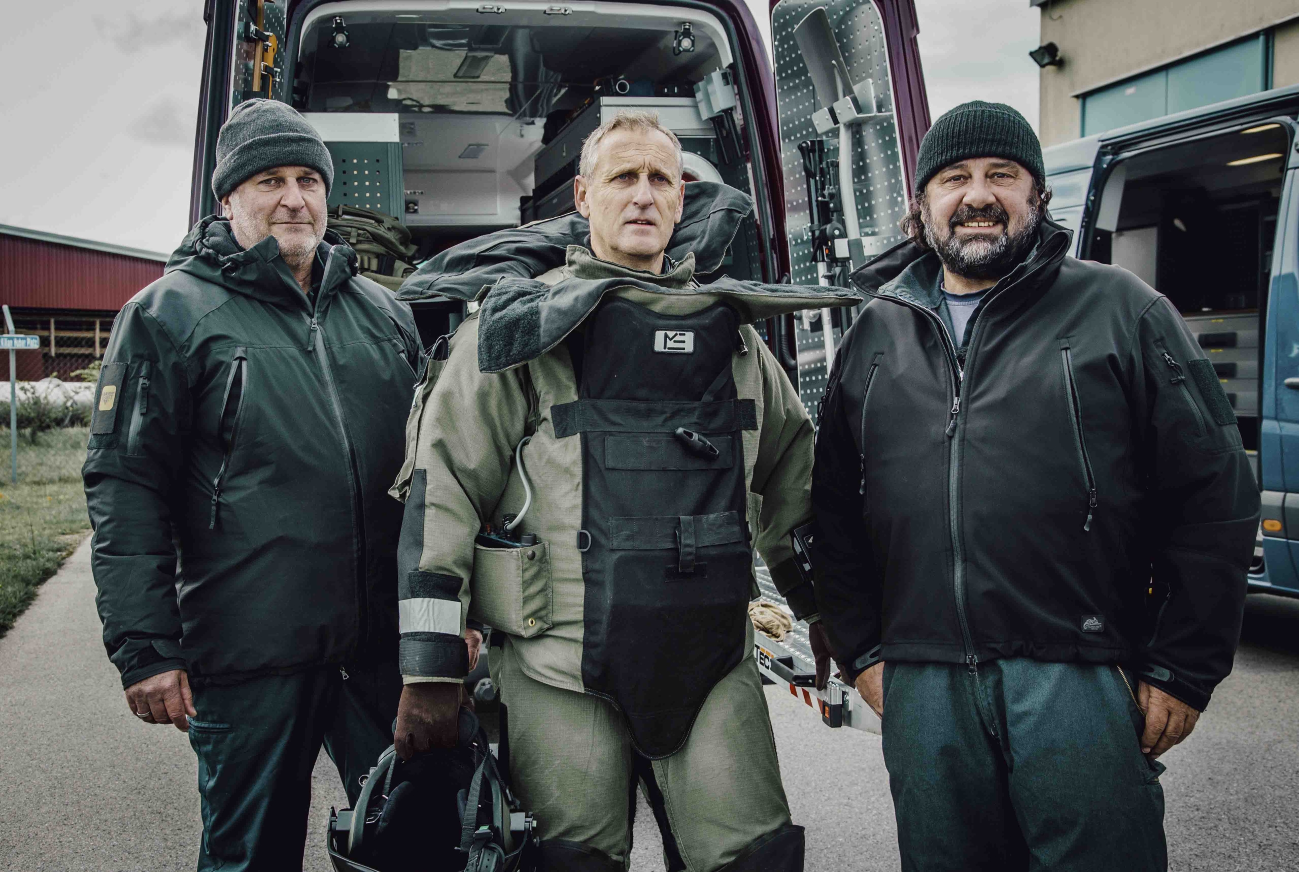
<svg viewBox="0 0 1299 872">
<path fill-rule="evenodd" d="M 18 483 L 9 480 L 9 430 L 0 429 L 0 635 L 36 598 L 90 529 L 81 467 L 86 428 L 18 439 Z"/>
</svg>

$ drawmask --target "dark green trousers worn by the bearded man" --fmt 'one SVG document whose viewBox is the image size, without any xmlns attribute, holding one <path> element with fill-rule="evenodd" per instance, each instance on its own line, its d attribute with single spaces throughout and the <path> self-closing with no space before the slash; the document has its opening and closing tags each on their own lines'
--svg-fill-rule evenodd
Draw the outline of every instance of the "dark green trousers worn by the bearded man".
<svg viewBox="0 0 1299 872">
<path fill-rule="evenodd" d="M 889 663 L 883 690 L 903 869 L 1168 867 L 1164 765 L 1118 667 Z"/>
</svg>

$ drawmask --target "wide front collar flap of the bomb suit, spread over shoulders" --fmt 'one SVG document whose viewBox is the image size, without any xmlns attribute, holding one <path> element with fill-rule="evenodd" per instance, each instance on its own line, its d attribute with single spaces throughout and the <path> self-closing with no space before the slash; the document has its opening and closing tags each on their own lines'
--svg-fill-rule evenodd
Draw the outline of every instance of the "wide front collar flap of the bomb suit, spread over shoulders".
<svg viewBox="0 0 1299 872">
<path fill-rule="evenodd" d="M 505 277 L 491 287 L 478 314 L 479 370 L 503 372 L 540 357 L 575 330 L 611 292 L 642 305 L 664 296 L 690 296 L 699 300 L 700 308 L 725 301 L 746 324 L 803 309 L 861 303 L 861 295 L 846 287 L 763 285 L 727 276 L 698 285 L 691 252 L 679 263 L 669 263 L 662 274 L 611 264 L 581 246 L 565 251 L 565 263 L 570 277 L 553 285 Z"/>
</svg>

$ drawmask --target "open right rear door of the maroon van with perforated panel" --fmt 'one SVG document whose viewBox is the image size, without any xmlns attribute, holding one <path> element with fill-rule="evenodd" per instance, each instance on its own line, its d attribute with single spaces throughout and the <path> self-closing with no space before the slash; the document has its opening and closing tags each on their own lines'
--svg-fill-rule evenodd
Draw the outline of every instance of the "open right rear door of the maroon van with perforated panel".
<svg viewBox="0 0 1299 872">
<path fill-rule="evenodd" d="M 772 5 L 791 281 L 844 285 L 903 239 L 929 101 L 913 0 Z M 813 412 L 851 309 L 796 318 L 799 395 Z"/>
</svg>

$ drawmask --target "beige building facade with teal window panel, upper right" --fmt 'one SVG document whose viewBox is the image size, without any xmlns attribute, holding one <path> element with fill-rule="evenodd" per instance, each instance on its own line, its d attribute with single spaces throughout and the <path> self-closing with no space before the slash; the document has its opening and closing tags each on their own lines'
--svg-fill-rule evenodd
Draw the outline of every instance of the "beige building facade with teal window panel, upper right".
<svg viewBox="0 0 1299 872">
<path fill-rule="evenodd" d="M 1029 0 L 1043 146 L 1299 83 L 1296 0 Z"/>
</svg>

